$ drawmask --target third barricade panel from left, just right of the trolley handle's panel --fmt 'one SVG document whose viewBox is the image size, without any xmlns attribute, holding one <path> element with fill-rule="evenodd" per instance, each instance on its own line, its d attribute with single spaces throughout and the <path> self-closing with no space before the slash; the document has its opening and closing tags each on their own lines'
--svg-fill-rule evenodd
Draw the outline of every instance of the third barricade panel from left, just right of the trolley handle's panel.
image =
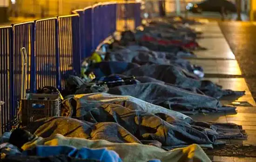
<svg viewBox="0 0 256 162">
<path fill-rule="evenodd" d="M 35 21 L 36 86 L 61 89 L 60 56 L 58 48 L 58 19 Z"/>
</svg>

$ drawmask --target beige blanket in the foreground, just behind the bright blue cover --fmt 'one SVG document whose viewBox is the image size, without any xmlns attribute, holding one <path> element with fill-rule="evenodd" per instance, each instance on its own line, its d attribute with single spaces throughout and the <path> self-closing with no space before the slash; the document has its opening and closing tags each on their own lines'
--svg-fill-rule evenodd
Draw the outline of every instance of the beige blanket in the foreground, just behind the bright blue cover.
<svg viewBox="0 0 256 162">
<path fill-rule="evenodd" d="M 119 154 L 123 162 L 147 162 L 159 159 L 162 162 L 211 162 L 202 148 L 196 144 L 185 148 L 165 151 L 155 146 L 138 143 L 111 143 L 105 140 L 87 140 L 83 138 L 70 138 L 56 134 L 52 138 L 36 138 L 23 145 L 22 149 L 34 148 L 36 145 L 68 145 L 77 149 L 87 147 L 91 149 L 107 148 Z"/>
</svg>

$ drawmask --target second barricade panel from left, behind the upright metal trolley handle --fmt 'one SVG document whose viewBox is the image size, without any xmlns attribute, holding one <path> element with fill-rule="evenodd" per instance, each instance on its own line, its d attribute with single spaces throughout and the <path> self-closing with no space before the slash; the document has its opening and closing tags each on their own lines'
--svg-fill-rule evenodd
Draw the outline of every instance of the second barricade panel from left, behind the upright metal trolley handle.
<svg viewBox="0 0 256 162">
<path fill-rule="evenodd" d="M 21 53 L 20 49 L 25 48 L 27 51 L 27 87 L 24 87 L 27 91 L 35 92 L 35 66 L 34 66 L 34 22 L 26 22 L 13 25 L 13 81 L 14 81 L 14 111 L 15 115 L 18 112 L 18 106 L 20 102 L 21 92 Z"/>
</svg>

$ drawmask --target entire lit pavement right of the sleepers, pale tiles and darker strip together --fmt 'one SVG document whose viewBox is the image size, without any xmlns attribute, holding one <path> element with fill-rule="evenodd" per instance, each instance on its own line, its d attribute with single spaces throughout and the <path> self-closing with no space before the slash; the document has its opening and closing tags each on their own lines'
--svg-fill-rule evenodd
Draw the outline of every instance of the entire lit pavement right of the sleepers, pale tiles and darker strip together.
<svg viewBox="0 0 256 162">
<path fill-rule="evenodd" d="M 207 25 L 194 27 L 203 31 L 198 43 L 208 50 L 195 51 L 198 58 L 190 61 L 204 68 L 206 80 L 224 89 L 246 91 L 246 95 L 237 100 L 221 100 L 223 104 L 238 104 L 236 114 L 204 113 L 191 116 L 195 120 L 243 125 L 248 134 L 248 139 L 225 140 L 225 148 L 219 152 L 208 151 L 209 157 L 214 162 L 256 162 L 256 25 L 211 21 Z"/>
</svg>

